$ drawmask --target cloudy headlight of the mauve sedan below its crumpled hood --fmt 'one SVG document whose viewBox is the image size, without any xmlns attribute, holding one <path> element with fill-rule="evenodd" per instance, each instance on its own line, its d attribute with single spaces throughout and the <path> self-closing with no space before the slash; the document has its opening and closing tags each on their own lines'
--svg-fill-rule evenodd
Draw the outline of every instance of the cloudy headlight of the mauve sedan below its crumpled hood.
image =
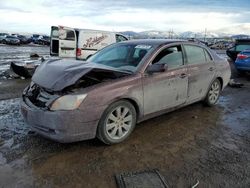
<svg viewBox="0 0 250 188">
<path fill-rule="evenodd" d="M 74 110 L 80 106 L 82 101 L 86 98 L 87 94 L 81 95 L 64 95 L 56 99 L 50 110 Z"/>
</svg>

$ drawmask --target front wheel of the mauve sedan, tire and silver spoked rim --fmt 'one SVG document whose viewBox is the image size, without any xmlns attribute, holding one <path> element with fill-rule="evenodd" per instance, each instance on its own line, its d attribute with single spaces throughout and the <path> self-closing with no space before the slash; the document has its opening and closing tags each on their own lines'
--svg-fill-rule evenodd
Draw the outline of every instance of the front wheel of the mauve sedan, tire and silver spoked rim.
<svg viewBox="0 0 250 188">
<path fill-rule="evenodd" d="M 105 144 L 117 144 L 124 141 L 136 124 L 134 106 L 121 100 L 111 104 L 103 113 L 97 129 L 97 137 Z"/>
</svg>

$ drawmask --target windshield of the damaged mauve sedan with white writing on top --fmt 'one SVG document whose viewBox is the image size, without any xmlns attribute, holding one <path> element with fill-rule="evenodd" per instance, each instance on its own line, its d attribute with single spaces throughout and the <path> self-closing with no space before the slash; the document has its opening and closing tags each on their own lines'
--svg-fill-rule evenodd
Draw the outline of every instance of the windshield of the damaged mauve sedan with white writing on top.
<svg viewBox="0 0 250 188">
<path fill-rule="evenodd" d="M 87 61 L 106 65 L 121 71 L 135 72 L 143 58 L 152 51 L 151 45 L 114 44 L 97 52 Z"/>
</svg>

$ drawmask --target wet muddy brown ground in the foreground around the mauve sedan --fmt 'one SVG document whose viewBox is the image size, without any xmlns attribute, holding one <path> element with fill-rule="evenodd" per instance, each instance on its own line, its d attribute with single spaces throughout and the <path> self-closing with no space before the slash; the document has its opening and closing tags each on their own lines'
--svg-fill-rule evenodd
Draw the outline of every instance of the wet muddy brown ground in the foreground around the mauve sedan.
<svg viewBox="0 0 250 188">
<path fill-rule="evenodd" d="M 244 87 L 227 87 L 215 107 L 196 103 L 140 123 L 113 146 L 44 139 L 29 132 L 18 98 L 1 100 L 0 187 L 115 188 L 115 174 L 153 168 L 170 187 L 250 187 L 248 79 L 236 78 Z"/>
</svg>

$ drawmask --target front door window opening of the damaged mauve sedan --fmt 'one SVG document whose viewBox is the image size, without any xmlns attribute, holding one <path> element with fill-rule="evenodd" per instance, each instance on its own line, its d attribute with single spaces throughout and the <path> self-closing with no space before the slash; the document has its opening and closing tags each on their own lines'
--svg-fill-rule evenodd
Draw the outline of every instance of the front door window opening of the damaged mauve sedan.
<svg viewBox="0 0 250 188">
<path fill-rule="evenodd" d="M 183 55 L 180 45 L 162 50 L 153 60 L 152 64 L 167 64 L 168 69 L 178 68 L 183 65 Z"/>
</svg>

